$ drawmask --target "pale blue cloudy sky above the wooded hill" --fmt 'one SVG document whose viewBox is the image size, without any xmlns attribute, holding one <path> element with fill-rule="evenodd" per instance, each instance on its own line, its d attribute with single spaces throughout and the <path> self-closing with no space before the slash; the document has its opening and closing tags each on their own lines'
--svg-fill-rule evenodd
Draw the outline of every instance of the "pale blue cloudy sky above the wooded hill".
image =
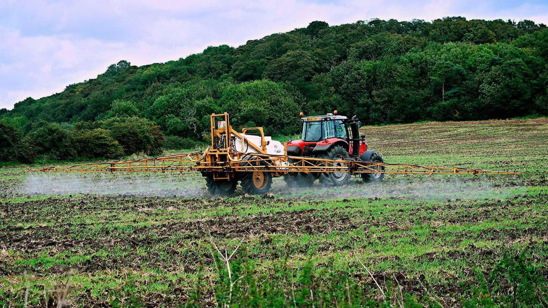
<svg viewBox="0 0 548 308">
<path fill-rule="evenodd" d="M 339 25 L 443 16 L 548 24 L 548 0 L 0 0 L 0 109 L 59 93 L 119 60 L 177 60 L 314 20 Z"/>
</svg>

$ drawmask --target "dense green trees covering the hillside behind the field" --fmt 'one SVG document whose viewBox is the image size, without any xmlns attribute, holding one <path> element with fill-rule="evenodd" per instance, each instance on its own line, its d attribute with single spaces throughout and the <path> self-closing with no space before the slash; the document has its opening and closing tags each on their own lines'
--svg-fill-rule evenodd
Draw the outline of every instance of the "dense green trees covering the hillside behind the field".
<svg viewBox="0 0 548 308">
<path fill-rule="evenodd" d="M 337 109 L 368 124 L 548 115 L 547 65 L 548 29 L 528 20 L 374 19 L 340 26 L 314 21 L 237 48 L 208 47 L 163 64 L 119 61 L 61 93 L 0 110 L 0 121 L 17 130 L 6 134 L 31 141 L 54 129 L 43 142 L 67 136 L 79 122 L 106 121 L 103 129 L 117 123 L 119 132 L 86 136 L 103 138 L 101 149 L 88 151 L 85 142 L 61 149 L 74 143 L 59 141 L 40 144 L 36 151 L 70 158 L 119 155 L 107 135 L 123 153 L 158 152 L 162 134 L 203 141 L 209 114 L 222 111 L 231 113 L 233 126 L 264 126 L 270 135 L 298 131 L 299 111 Z M 131 128 L 133 122 L 143 125 L 138 118 L 153 121 L 159 130 Z M 36 129 L 39 121 L 66 124 Z M 128 129 L 152 135 L 133 144 L 132 138 L 143 136 L 130 137 Z M 2 159 L 16 159 L 14 149 L 22 140 L 9 141 L 15 145 Z"/>
</svg>

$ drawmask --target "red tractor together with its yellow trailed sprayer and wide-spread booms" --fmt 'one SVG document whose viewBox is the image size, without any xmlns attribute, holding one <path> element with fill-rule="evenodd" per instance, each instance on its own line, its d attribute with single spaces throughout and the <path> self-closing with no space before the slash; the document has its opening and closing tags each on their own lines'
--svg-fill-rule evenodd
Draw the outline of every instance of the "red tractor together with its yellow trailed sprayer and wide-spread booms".
<svg viewBox="0 0 548 308">
<path fill-rule="evenodd" d="M 230 126 L 228 113 L 212 114 L 211 145 L 201 152 L 126 161 L 31 169 L 41 172 L 201 172 L 212 195 L 230 195 L 238 182 L 244 192 L 258 195 L 270 190 L 272 178 L 288 185 L 310 186 L 316 180 L 325 187 L 347 184 L 352 175 L 366 182 L 380 182 L 385 174 L 518 174 L 458 167 L 431 167 L 385 163 L 359 136 L 356 116 L 304 117 L 302 138 L 285 144 L 265 136 L 262 127 Z M 253 132 L 253 134 L 250 134 Z"/>
</svg>

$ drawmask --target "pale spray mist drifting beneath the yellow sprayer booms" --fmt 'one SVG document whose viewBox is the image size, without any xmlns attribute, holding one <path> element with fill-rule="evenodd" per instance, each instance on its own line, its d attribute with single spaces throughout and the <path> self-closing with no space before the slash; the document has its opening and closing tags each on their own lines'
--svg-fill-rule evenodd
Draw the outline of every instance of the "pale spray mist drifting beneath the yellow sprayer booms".
<svg viewBox="0 0 548 308">
<path fill-rule="evenodd" d="M 276 197 L 307 199 L 348 197 L 404 197 L 409 199 L 505 198 L 519 184 L 501 185 L 493 179 L 473 177 L 386 176 L 382 183 L 352 180 L 343 187 L 288 187 L 283 178 L 273 181 Z M 29 174 L 19 193 L 26 195 L 98 194 L 112 196 L 210 197 L 200 174 L 178 173 L 36 173 Z M 243 195 L 241 189 L 235 195 Z"/>
</svg>

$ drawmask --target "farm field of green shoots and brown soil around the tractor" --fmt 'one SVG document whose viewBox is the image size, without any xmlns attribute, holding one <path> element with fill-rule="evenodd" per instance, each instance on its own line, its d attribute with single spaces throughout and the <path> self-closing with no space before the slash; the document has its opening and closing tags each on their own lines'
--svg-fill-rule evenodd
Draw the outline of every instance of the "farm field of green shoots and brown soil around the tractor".
<svg viewBox="0 0 548 308">
<path fill-rule="evenodd" d="M 386 162 L 523 173 L 212 198 L 196 174 L 5 167 L 0 307 L 548 306 L 548 119 L 362 130 Z"/>
</svg>

